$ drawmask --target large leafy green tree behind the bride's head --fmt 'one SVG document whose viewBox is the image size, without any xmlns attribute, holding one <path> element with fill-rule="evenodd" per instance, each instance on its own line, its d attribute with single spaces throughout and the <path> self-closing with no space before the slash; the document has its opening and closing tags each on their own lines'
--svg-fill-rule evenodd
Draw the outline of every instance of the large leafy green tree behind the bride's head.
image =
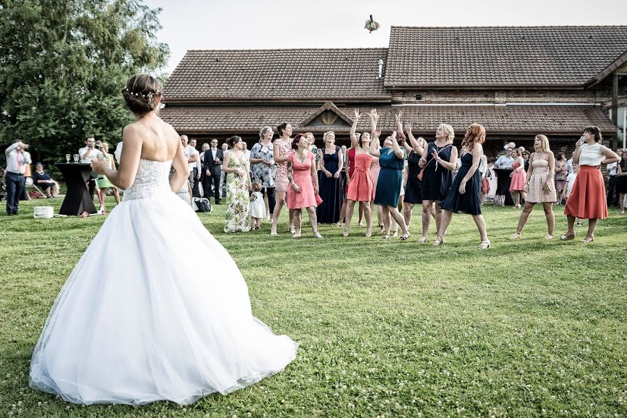
<svg viewBox="0 0 627 418">
<path fill-rule="evenodd" d="M 140 0 L 0 0 L 0 146 L 65 160 L 84 138 L 116 146 L 132 121 L 121 90 L 163 67 L 160 8 Z"/>
</svg>

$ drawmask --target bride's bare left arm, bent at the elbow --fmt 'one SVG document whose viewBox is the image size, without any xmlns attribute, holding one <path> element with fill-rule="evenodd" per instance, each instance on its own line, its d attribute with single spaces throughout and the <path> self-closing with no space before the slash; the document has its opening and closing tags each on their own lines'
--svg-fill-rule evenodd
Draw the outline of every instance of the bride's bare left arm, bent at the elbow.
<svg viewBox="0 0 627 418">
<path fill-rule="evenodd" d="M 105 160 L 98 160 L 92 164 L 95 172 L 104 174 L 111 183 L 123 190 L 129 189 L 133 185 L 137 167 L 139 167 L 142 140 L 141 137 L 137 135 L 136 130 L 137 128 L 133 125 L 124 127 L 122 132 L 124 146 L 122 147 L 121 162 L 117 171 L 111 170 L 109 163 Z M 183 146 L 180 148 L 183 149 Z"/>
</svg>

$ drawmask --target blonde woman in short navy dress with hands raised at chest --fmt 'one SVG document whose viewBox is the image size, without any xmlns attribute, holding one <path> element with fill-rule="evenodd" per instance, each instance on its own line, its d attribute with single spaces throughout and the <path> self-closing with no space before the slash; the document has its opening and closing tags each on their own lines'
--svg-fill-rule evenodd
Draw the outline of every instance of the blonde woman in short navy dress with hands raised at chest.
<svg viewBox="0 0 627 418">
<path fill-rule="evenodd" d="M 457 163 L 457 148 L 453 146 L 455 131 L 451 125 L 440 123 L 435 131 L 435 141 L 430 142 L 422 152 L 420 167 L 422 178 L 422 238 L 424 244 L 428 238 L 432 208 L 435 206 L 435 233 L 440 236 L 442 208 L 440 202 L 447 195 L 453 181 L 453 170 Z M 436 238 L 433 245 L 440 245 L 442 238 Z"/>
</svg>

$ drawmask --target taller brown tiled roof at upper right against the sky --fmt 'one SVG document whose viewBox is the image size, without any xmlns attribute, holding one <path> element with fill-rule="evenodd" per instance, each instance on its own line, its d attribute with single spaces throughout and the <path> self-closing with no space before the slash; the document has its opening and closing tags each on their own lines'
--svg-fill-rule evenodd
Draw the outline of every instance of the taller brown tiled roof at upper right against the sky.
<svg viewBox="0 0 627 418">
<path fill-rule="evenodd" d="M 582 86 L 627 51 L 627 26 L 392 26 L 385 86 Z"/>
</svg>

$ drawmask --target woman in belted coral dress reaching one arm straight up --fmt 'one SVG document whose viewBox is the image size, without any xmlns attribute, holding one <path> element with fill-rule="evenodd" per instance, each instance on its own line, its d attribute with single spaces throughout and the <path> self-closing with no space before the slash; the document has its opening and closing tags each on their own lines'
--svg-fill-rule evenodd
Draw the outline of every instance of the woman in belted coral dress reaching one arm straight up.
<svg viewBox="0 0 627 418">
<path fill-rule="evenodd" d="M 372 112 L 371 112 L 372 115 Z M 355 150 L 355 164 L 353 175 L 350 177 L 348 184 L 348 204 L 346 206 L 346 226 L 344 227 L 344 236 L 348 237 L 350 232 L 350 219 L 353 218 L 353 210 L 355 202 L 359 202 L 359 206 L 364 208 L 364 216 L 366 217 L 366 237 L 372 236 L 372 210 L 370 201 L 374 199 L 374 187 L 372 176 L 370 173 L 370 164 L 373 160 L 369 153 L 370 133 L 362 133 L 360 139 L 357 139 L 357 123 L 359 123 L 359 109 L 355 109 L 355 120 L 350 128 L 350 143 L 353 144 Z"/>
</svg>

